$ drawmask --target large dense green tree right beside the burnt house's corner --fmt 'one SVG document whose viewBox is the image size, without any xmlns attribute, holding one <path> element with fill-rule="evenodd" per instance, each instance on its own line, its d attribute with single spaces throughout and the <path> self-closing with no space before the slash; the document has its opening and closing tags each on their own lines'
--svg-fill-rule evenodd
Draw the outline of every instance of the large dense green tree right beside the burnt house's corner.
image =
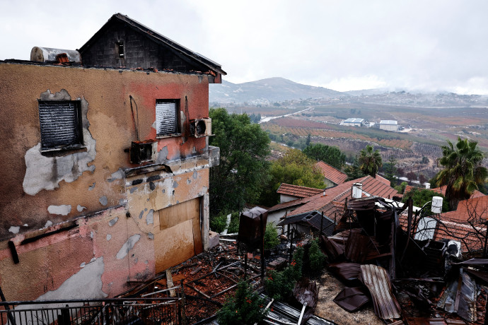
<svg viewBox="0 0 488 325">
<path fill-rule="evenodd" d="M 228 114 L 224 108 L 210 109 L 210 146 L 220 148 L 220 165 L 210 169 L 211 214 L 238 211 L 245 202 L 260 197 L 267 180 L 269 137 L 247 114 Z"/>
</svg>

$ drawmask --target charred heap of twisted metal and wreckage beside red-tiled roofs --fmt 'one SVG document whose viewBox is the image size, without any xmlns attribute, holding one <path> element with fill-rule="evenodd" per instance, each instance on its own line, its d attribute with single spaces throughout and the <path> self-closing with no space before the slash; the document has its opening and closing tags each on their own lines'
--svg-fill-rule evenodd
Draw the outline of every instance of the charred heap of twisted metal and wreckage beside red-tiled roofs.
<svg viewBox="0 0 488 325">
<path fill-rule="evenodd" d="M 334 302 L 372 302 L 386 324 L 488 324 L 488 259 L 461 261 L 460 243 L 435 241 L 414 215 L 378 197 L 346 202 L 334 235 L 321 236 L 330 273 L 347 285 Z"/>
</svg>

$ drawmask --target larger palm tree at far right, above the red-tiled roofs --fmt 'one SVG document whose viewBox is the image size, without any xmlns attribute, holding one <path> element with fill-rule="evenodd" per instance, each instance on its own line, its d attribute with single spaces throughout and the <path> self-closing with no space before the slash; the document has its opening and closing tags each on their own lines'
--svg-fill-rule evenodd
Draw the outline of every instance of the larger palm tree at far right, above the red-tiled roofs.
<svg viewBox="0 0 488 325">
<path fill-rule="evenodd" d="M 476 148 L 476 141 L 461 139 L 455 148 L 451 141 L 442 146 L 442 158 L 438 160 L 443 170 L 436 175 L 437 186 L 446 185 L 446 199 L 451 209 L 458 207 L 458 201 L 469 199 L 478 185 L 484 184 L 488 170 L 482 166 L 484 155 Z"/>
</svg>

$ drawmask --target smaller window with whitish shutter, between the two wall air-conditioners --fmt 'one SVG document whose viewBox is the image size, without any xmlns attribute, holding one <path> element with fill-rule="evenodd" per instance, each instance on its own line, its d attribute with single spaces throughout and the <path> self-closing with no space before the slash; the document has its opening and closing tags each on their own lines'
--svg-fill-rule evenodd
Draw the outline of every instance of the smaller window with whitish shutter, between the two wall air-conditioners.
<svg viewBox="0 0 488 325">
<path fill-rule="evenodd" d="M 180 136 L 179 100 L 156 100 L 156 135 Z"/>
</svg>

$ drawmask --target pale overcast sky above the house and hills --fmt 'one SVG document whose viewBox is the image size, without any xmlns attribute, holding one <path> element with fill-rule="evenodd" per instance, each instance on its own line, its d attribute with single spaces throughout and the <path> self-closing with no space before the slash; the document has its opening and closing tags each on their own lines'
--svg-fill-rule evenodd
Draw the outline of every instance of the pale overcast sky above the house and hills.
<svg viewBox="0 0 488 325">
<path fill-rule="evenodd" d="M 488 1 L 0 0 L 0 59 L 77 49 L 124 13 L 222 65 L 233 83 L 488 94 Z"/>
</svg>

